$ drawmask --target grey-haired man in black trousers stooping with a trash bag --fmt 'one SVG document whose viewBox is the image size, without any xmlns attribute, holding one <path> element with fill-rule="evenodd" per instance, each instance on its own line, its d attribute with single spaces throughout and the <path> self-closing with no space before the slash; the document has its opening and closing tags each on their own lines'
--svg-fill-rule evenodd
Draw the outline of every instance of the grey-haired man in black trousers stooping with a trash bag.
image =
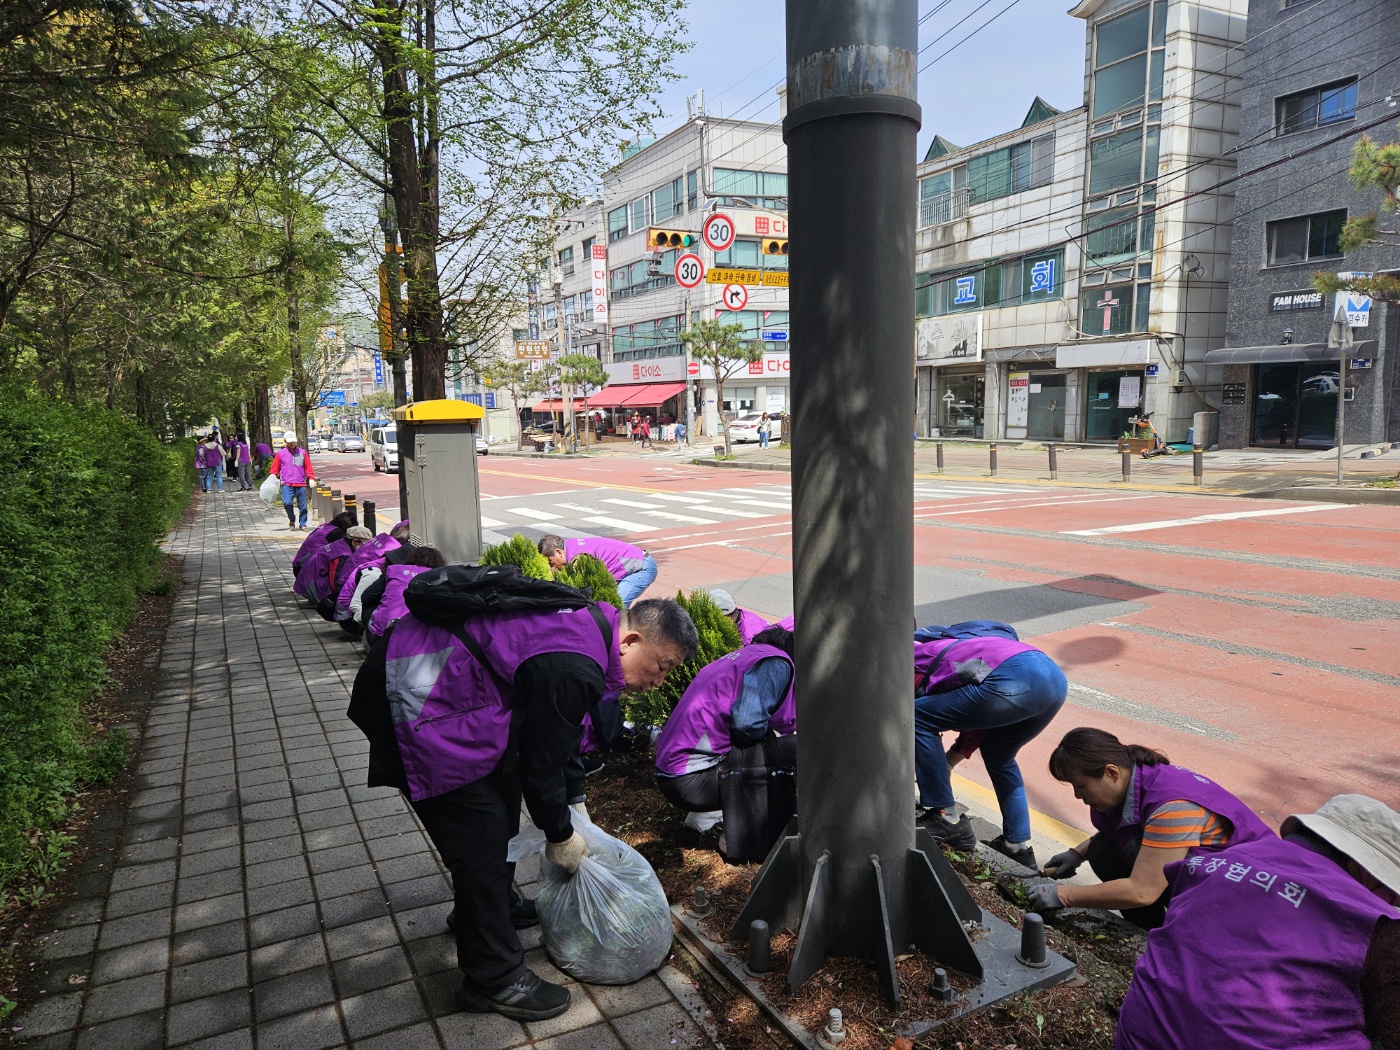
<svg viewBox="0 0 1400 1050">
<path fill-rule="evenodd" d="M 568 1009 L 568 988 L 525 965 L 517 934 L 539 921 L 535 903 L 512 889 L 507 860 L 521 801 L 545 833 L 545 858 L 577 872 L 587 846 L 566 769 L 584 715 L 608 692 L 659 686 L 694 652 L 694 623 L 665 599 L 630 612 L 589 605 L 465 622 L 458 613 L 451 626 L 410 612 L 370 650 L 350 720 L 370 742 L 368 785 L 409 798 L 452 874 L 461 1009 L 515 1021 Z"/>
</svg>

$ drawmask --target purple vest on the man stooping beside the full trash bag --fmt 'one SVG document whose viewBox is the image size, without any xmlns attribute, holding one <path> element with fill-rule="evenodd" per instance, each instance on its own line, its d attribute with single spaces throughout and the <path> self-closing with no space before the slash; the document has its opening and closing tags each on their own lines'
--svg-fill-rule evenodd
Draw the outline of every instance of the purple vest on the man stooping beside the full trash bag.
<svg viewBox="0 0 1400 1050">
<path fill-rule="evenodd" d="M 612 626 L 612 645 L 605 644 L 588 609 L 468 620 L 465 630 L 480 644 L 496 675 L 477 664 L 447 627 L 426 624 L 413 613 L 399 620 L 385 652 L 385 692 L 410 798 L 441 795 L 496 769 L 510 736 L 515 671 L 526 659 L 577 652 L 602 668 L 606 690 L 626 685 L 617 652 L 617 610 L 610 605 L 598 608 Z"/>
</svg>

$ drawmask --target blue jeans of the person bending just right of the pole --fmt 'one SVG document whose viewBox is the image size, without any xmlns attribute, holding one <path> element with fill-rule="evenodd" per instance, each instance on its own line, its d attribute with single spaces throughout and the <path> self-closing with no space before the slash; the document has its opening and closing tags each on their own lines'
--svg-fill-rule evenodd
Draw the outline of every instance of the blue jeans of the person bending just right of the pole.
<svg viewBox="0 0 1400 1050">
<path fill-rule="evenodd" d="M 1018 652 L 980 685 L 914 699 L 914 774 L 927 809 L 949 809 L 953 787 L 939 736 L 945 729 L 983 729 L 981 760 L 1001 805 L 1001 832 L 1011 843 L 1030 840 L 1030 809 L 1016 752 L 1064 706 L 1064 672 L 1043 652 Z"/>
</svg>

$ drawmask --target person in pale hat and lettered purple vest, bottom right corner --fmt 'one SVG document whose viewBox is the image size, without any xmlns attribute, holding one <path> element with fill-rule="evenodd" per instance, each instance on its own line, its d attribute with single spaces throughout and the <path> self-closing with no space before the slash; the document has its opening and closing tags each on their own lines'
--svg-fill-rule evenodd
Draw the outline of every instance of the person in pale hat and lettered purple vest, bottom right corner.
<svg viewBox="0 0 1400 1050">
<path fill-rule="evenodd" d="M 1400 1049 L 1400 813 L 1337 795 L 1168 867 L 1116 1050 Z"/>
</svg>

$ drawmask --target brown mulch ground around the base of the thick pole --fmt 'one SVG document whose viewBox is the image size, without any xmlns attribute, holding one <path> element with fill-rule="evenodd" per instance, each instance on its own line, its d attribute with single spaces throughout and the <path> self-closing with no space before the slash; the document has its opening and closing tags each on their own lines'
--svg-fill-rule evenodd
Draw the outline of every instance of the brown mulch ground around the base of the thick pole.
<svg viewBox="0 0 1400 1050">
<path fill-rule="evenodd" d="M 672 904 L 689 902 L 696 885 L 703 885 L 714 903 L 706 920 L 707 931 L 711 938 L 724 941 L 759 865 L 727 864 L 715 848 L 717 832 L 697 834 L 685 827 L 685 815 L 657 791 L 650 753 L 609 755 L 606 767 L 588 780 L 588 811 L 601 827 L 631 844 L 651 862 Z M 997 874 L 976 855 L 948 855 L 981 907 L 1021 925 L 1023 911 L 1007 899 L 1005 878 L 998 885 Z M 1112 1047 L 1119 1004 L 1144 939 L 1124 935 L 1120 924 L 1085 913 L 1077 913 L 1072 921 L 1049 925 L 1046 939 L 1053 951 L 1078 965 L 1079 976 L 1074 981 L 948 1022 L 914 1046 L 955 1050 Z M 899 1012 L 881 998 L 874 969 L 854 959 L 827 960 L 798 994 L 788 995 L 787 967 L 795 941 L 790 931 L 773 937 L 773 970 L 763 977 L 764 994 L 809 1032 L 826 1023 L 830 1007 L 840 1007 L 847 1030 L 843 1050 L 883 1050 L 896 1044 L 900 1029 L 951 1012 L 928 994 L 937 963 L 920 952 L 896 960 Z M 729 1050 L 770 1050 L 788 1044 L 748 995 L 700 969 L 693 976 Z M 958 974 L 951 974 L 951 980 L 955 988 L 969 984 Z M 899 1042 L 903 1049 L 910 1046 L 907 1040 Z"/>
</svg>

